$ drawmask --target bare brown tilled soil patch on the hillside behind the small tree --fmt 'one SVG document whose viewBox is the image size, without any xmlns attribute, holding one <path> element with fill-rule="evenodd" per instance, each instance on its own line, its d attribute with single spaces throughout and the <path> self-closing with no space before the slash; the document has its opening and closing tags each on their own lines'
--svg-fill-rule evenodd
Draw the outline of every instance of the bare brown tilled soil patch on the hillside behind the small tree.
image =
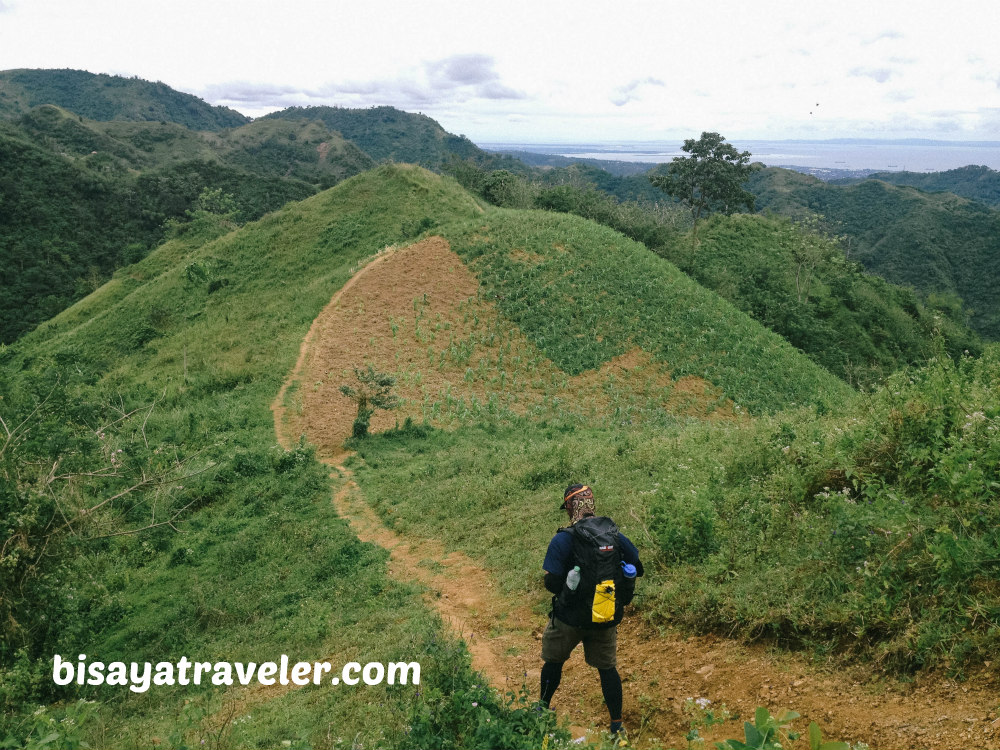
<svg viewBox="0 0 1000 750">
<path fill-rule="evenodd" d="M 407 417 L 447 427 L 484 412 L 732 416 L 718 389 L 692 376 L 673 380 L 638 348 L 598 370 L 567 375 L 478 292 L 476 277 L 439 237 L 387 249 L 314 322 L 291 387 L 273 405 L 283 431 L 305 435 L 323 455 L 338 451 L 355 417 L 340 386 L 367 365 L 394 374 L 402 399 L 395 412 L 375 415 L 373 432 Z"/>
</svg>

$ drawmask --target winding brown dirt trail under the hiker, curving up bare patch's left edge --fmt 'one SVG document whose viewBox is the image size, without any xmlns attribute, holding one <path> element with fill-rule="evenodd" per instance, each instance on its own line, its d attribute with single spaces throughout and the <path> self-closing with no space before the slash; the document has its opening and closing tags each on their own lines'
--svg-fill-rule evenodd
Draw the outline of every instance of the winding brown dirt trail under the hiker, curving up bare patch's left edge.
<svg viewBox="0 0 1000 750">
<path fill-rule="evenodd" d="M 416 249 L 419 252 L 419 247 Z M 342 482 L 334 497 L 338 512 L 360 539 L 389 550 L 393 577 L 426 587 L 428 603 L 468 644 L 473 666 L 501 691 L 517 690 L 526 683 L 534 692 L 544 618 L 535 614 L 532 605 L 543 601 L 544 592 L 535 602 L 511 601 L 474 560 L 447 552 L 438 540 L 399 537 L 365 503 L 343 465 L 346 454 L 340 443 L 349 434 L 353 415 L 342 405 L 327 403 L 318 433 L 313 434 L 310 412 L 322 401 L 313 401 L 300 414 L 292 415 L 287 408 L 290 386 L 295 383 L 301 389 L 302 380 L 310 382 L 306 377 L 310 357 L 319 348 L 333 346 L 332 339 L 350 333 L 342 326 L 330 325 L 327 313 L 336 310 L 356 283 L 373 271 L 383 276 L 380 284 L 391 284 L 394 278 L 402 284 L 404 277 L 412 281 L 412 266 L 398 268 L 396 277 L 392 273 L 393 258 L 405 257 L 394 252 L 378 256 L 317 318 L 302 343 L 295 370 L 272 405 L 275 429 L 285 447 L 299 434 L 306 434 L 320 446 L 324 461 L 336 471 L 332 476 Z M 445 256 L 439 253 L 440 257 Z M 442 267 L 441 273 L 453 270 Z M 317 441 L 314 438 L 318 436 L 321 439 Z M 1000 750 L 1000 693 L 996 681 L 985 678 L 966 683 L 935 676 L 900 684 L 875 682 L 864 669 L 853 674 L 825 672 L 793 655 L 775 654 L 763 647 L 659 632 L 638 613 L 619 628 L 619 671 L 625 689 L 624 718 L 640 747 L 654 737 L 667 747 L 684 746 L 690 716 L 683 706 L 686 699 L 701 697 L 710 699 L 714 706 L 724 703 L 743 718 L 751 718 L 757 706 L 775 714 L 793 710 L 802 715 L 795 722 L 796 729 L 804 730 L 810 721 L 816 721 L 826 738 L 866 742 L 872 750 Z M 553 707 L 560 716 L 569 717 L 577 735 L 583 728 L 606 725 L 607 711 L 597 675 L 583 664 L 582 654 L 574 654 L 567 663 Z M 741 722 L 728 722 L 721 729 L 703 730 L 702 736 L 709 740 L 738 736 L 741 726 Z M 796 746 L 805 747 L 807 741 L 800 740 Z"/>
</svg>

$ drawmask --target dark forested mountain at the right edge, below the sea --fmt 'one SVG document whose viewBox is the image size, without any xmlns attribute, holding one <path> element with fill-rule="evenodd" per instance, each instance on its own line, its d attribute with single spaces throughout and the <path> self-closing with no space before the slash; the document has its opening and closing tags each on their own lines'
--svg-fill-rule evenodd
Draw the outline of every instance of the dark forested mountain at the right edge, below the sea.
<svg viewBox="0 0 1000 750">
<path fill-rule="evenodd" d="M 1000 212 L 952 193 L 865 180 L 831 185 L 808 175 L 768 168 L 748 185 L 757 207 L 824 217 L 843 235 L 848 257 L 937 304 L 964 303 L 972 328 L 1000 339 Z M 950 301 L 949 301 L 950 300 Z"/>
</svg>

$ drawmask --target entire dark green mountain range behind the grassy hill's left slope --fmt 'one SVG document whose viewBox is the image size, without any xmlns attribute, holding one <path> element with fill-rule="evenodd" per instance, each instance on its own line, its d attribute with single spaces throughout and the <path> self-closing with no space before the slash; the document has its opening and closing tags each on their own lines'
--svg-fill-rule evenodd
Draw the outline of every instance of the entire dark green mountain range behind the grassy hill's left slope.
<svg viewBox="0 0 1000 750">
<path fill-rule="evenodd" d="M 292 109 L 251 123 L 162 83 L 73 70 L 0 73 L 0 139 L 9 174 L 25 178 L 23 186 L 4 183 L 20 192 L 6 202 L 38 206 L 0 217 L 0 242 L 18 259 L 5 269 L 0 342 L 141 257 L 206 191 L 221 191 L 233 219 L 245 222 L 375 161 L 439 168 L 449 159 L 499 159 L 428 117 L 390 107 Z M 21 163 L 25 144 L 34 156 Z M 50 179 L 58 184 L 46 194 Z M 104 187 L 75 193 L 94 179 Z M 100 219 L 78 220 L 74 203 Z M 59 261 L 26 253 L 32 244 L 58 245 Z"/>
</svg>

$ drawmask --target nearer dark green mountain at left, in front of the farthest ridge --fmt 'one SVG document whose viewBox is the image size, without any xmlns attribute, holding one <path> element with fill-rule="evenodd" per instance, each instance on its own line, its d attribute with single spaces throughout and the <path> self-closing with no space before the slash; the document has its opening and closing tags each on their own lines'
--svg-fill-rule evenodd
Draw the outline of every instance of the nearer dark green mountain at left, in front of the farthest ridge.
<svg viewBox="0 0 1000 750">
<path fill-rule="evenodd" d="M 308 120 L 206 133 L 42 105 L 0 123 L 0 343 L 143 257 L 170 220 L 211 207 L 242 224 L 372 164 Z M 199 203 L 212 191 L 225 200 Z"/>
</svg>

